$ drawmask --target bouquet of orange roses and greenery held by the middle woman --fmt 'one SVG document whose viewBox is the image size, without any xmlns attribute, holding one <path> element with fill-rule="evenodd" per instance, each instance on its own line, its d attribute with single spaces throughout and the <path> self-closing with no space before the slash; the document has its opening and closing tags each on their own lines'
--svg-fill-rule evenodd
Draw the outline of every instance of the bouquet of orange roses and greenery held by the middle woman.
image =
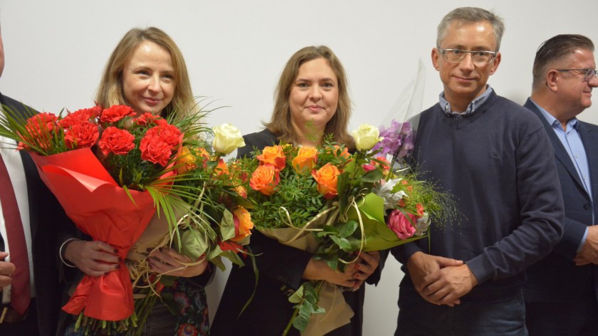
<svg viewBox="0 0 598 336">
<path fill-rule="evenodd" d="M 248 191 L 256 229 L 341 271 L 363 251 L 421 238 L 446 209 L 433 186 L 392 171 L 372 150 L 382 140 L 376 128 L 362 125 L 353 135 L 354 153 L 329 140 L 318 148 L 275 145 L 240 159 L 231 172 Z M 323 335 L 347 323 L 352 312 L 337 290 L 343 288 L 304 283 L 289 298 L 292 325 L 302 335 Z"/>
</svg>

